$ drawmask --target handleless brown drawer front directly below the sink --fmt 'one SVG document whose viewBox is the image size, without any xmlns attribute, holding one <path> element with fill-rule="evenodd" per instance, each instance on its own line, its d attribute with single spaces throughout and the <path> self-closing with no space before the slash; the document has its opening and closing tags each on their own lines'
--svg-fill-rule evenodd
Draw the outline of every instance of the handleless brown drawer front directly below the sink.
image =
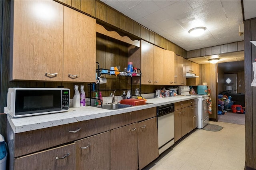
<svg viewBox="0 0 256 170">
<path fill-rule="evenodd" d="M 144 121 L 152 117 L 156 117 L 156 107 L 113 115 L 110 117 L 110 129 L 122 127 L 139 121 Z"/>
</svg>

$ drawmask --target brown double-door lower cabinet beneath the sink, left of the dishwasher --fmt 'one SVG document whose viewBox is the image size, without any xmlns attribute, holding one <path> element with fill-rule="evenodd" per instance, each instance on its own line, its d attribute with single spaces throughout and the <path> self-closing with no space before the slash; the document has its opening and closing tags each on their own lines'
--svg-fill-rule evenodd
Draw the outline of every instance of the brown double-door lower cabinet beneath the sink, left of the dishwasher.
<svg viewBox="0 0 256 170">
<path fill-rule="evenodd" d="M 156 117 L 110 131 L 110 169 L 142 169 L 158 157 Z"/>
</svg>

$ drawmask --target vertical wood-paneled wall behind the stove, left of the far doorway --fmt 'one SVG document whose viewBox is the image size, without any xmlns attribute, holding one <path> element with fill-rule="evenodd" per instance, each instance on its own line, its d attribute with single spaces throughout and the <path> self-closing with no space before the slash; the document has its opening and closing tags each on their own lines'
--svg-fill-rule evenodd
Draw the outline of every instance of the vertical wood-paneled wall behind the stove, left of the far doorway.
<svg viewBox="0 0 256 170">
<path fill-rule="evenodd" d="M 206 82 L 208 89 L 210 89 L 210 97 L 212 99 L 212 114 L 209 115 L 209 118 L 217 121 L 217 65 L 216 64 L 201 64 L 200 65 L 200 82 Z"/>
</svg>

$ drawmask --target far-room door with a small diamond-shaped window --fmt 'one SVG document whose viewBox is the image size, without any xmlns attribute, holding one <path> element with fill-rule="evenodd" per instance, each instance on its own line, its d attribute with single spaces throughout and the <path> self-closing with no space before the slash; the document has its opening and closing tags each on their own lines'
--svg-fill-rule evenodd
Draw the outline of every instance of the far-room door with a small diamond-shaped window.
<svg viewBox="0 0 256 170">
<path fill-rule="evenodd" d="M 237 74 L 224 74 L 224 91 L 237 93 Z"/>
</svg>

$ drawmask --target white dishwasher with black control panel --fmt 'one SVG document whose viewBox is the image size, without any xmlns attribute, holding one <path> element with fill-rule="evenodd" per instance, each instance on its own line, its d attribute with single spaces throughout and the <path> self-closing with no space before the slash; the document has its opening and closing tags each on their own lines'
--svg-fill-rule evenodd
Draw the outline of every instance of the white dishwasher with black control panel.
<svg viewBox="0 0 256 170">
<path fill-rule="evenodd" d="M 157 107 L 159 154 L 174 144 L 174 103 Z"/>
</svg>

